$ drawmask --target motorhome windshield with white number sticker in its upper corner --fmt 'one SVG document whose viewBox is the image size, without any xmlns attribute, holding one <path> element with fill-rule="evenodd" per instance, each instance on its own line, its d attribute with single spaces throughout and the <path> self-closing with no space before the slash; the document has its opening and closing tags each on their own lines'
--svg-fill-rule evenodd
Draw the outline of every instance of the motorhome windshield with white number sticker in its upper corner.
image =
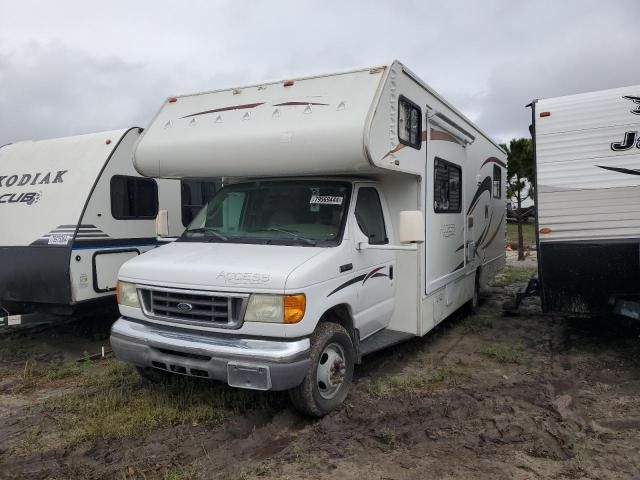
<svg viewBox="0 0 640 480">
<path fill-rule="evenodd" d="M 224 187 L 180 241 L 333 246 L 340 243 L 351 184 L 256 181 Z"/>
</svg>

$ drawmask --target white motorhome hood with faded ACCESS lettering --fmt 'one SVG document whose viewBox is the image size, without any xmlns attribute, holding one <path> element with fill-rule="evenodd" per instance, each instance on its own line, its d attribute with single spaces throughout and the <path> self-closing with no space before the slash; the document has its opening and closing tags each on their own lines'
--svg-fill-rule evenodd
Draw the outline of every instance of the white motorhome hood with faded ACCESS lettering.
<svg viewBox="0 0 640 480">
<path fill-rule="evenodd" d="M 126 262 L 119 278 L 150 285 L 284 291 L 289 274 L 324 248 L 174 242 Z"/>
</svg>

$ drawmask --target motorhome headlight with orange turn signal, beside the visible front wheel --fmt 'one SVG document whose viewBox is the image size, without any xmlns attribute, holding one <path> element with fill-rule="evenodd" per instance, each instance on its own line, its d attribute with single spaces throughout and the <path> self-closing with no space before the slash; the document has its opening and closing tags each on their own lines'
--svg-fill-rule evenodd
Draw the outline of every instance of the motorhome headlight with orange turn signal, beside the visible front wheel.
<svg viewBox="0 0 640 480">
<path fill-rule="evenodd" d="M 298 323 L 304 317 L 306 298 L 297 295 L 253 294 L 244 319 L 247 322 Z"/>
</svg>

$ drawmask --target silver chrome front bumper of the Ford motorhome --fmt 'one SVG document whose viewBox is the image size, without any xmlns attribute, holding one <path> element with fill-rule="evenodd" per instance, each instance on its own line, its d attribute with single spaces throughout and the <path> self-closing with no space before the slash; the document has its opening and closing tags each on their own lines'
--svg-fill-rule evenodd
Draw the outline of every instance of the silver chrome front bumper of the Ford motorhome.
<svg viewBox="0 0 640 480">
<path fill-rule="evenodd" d="M 309 366 L 311 343 L 211 335 L 121 317 L 111 327 L 111 348 L 123 362 L 180 375 L 225 381 L 254 390 L 298 386 Z"/>
</svg>

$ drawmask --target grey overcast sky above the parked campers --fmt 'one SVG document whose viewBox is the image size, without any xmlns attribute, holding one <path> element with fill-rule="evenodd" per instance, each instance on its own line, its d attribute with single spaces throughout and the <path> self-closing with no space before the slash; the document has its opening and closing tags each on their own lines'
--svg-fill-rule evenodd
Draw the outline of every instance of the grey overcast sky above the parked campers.
<svg viewBox="0 0 640 480">
<path fill-rule="evenodd" d="M 528 135 L 534 98 L 639 84 L 637 13 L 637 0 L 0 0 L 0 145 L 394 58 L 505 141 Z"/>
</svg>

